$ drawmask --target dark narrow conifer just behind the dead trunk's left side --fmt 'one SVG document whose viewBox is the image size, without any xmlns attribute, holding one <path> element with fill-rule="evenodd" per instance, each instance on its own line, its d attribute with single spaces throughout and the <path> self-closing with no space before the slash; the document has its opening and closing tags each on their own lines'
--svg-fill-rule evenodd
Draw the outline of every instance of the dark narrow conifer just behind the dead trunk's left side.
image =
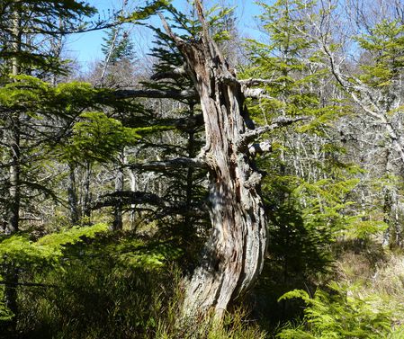
<svg viewBox="0 0 404 339">
<path fill-rule="evenodd" d="M 173 26 L 184 32 L 184 39 L 187 34 L 196 35 L 200 31 L 199 23 L 189 15 L 179 12 L 174 6 L 169 6 L 170 13 L 173 14 Z M 157 81 L 145 83 L 146 86 L 160 90 L 187 90 L 192 86 L 192 80 L 186 74 L 172 76 L 175 68 L 184 67 L 184 58 L 176 49 L 174 41 L 159 29 L 154 29 L 156 40 L 150 51 L 151 56 L 156 58 L 153 66 L 153 74 L 157 76 Z M 156 145 L 156 139 L 166 140 L 163 136 L 155 136 L 150 139 L 147 147 L 158 147 L 162 156 L 166 157 L 195 157 L 202 147 L 202 123 L 198 122 L 197 116 L 201 110 L 194 98 L 179 100 L 177 103 L 166 103 L 169 107 L 169 114 L 157 117 L 157 124 L 166 124 L 173 120 L 184 120 L 184 124 L 179 124 L 173 130 L 168 139 L 172 142 L 161 142 Z M 187 122 L 189 121 L 189 122 Z M 152 137 L 150 135 L 150 137 Z M 163 195 L 166 201 L 175 201 L 181 208 L 174 208 L 163 213 L 159 220 L 159 227 L 162 234 L 179 236 L 184 241 L 184 246 L 188 247 L 187 254 L 193 257 L 197 253 L 197 246 L 201 239 L 197 238 L 198 232 L 206 232 L 208 227 L 207 213 L 203 215 L 200 210 L 206 200 L 207 190 L 204 185 L 206 171 L 196 168 L 172 169 L 162 171 L 160 180 L 166 181 L 166 194 Z M 173 212 L 176 214 L 173 218 Z M 167 218 L 168 217 L 168 218 Z M 196 247 L 194 246 L 196 243 Z"/>
</svg>

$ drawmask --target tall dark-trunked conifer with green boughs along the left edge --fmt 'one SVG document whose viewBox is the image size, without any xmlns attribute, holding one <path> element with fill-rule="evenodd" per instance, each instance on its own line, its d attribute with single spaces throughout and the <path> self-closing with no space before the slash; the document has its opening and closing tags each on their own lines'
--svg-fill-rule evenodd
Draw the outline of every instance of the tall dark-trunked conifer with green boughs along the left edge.
<svg viewBox="0 0 404 339">
<path fill-rule="evenodd" d="M 147 16 L 156 5 L 134 13 L 131 19 Z M 10 0 L 0 4 L 0 13 L 3 13 L 0 35 L 4 41 L 0 49 L 4 71 L 0 88 L 4 199 L 0 203 L 3 233 L 13 235 L 21 229 L 25 204 L 32 208 L 34 198 L 43 194 L 58 200 L 49 187 L 54 175 L 47 173 L 42 164 L 49 162 L 50 153 L 54 153 L 55 145 L 66 136 L 77 115 L 94 107 L 94 102 L 106 99 L 88 85 L 52 88 L 39 79 L 67 74 L 58 55 L 49 53 L 48 38 L 85 29 L 82 19 L 94 13 L 93 7 L 76 1 Z M 63 22 L 62 27 L 59 22 Z M 4 328 L 13 332 L 18 318 L 15 268 L 18 263 L 12 260 L 9 263 L 4 267 L 2 278 L 5 305 L 13 317 Z"/>
</svg>

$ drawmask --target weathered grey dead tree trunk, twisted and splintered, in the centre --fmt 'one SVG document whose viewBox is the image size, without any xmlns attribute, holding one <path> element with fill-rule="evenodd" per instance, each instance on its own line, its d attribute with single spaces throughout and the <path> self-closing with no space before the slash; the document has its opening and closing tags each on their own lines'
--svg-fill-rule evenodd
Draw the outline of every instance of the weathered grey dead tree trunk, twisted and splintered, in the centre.
<svg viewBox="0 0 404 339">
<path fill-rule="evenodd" d="M 206 133 L 201 157 L 210 177 L 211 237 L 189 281 L 184 317 L 213 311 L 220 319 L 230 301 L 251 288 L 261 272 L 265 210 L 261 175 L 248 153 L 242 86 L 209 36 L 200 1 L 195 4 L 203 26 L 200 40 L 179 39 L 165 22 L 201 98 Z"/>
</svg>

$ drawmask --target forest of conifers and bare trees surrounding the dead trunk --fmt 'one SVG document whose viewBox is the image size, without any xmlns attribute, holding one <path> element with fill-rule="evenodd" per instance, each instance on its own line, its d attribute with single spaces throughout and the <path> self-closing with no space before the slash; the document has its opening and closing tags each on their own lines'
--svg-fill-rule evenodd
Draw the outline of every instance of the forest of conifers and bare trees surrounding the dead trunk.
<svg viewBox="0 0 404 339">
<path fill-rule="evenodd" d="M 0 3 L 0 337 L 404 337 L 402 2 L 257 2 L 259 39 L 198 4 Z M 66 44 L 90 31 L 83 70 Z M 182 46 L 207 45 L 215 88 L 241 84 L 267 250 L 197 312 L 218 177 Z"/>
</svg>

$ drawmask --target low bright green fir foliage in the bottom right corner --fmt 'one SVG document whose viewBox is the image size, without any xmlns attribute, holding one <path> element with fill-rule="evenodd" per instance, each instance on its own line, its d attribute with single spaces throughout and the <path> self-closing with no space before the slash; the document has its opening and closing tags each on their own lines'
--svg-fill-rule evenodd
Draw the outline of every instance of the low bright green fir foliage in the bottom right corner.
<svg viewBox="0 0 404 339">
<path fill-rule="evenodd" d="M 283 299 L 302 299 L 304 310 L 303 325 L 285 328 L 276 337 L 282 339 L 356 339 L 393 338 L 392 310 L 383 305 L 376 296 L 361 297 L 357 291 L 349 291 L 336 283 L 330 291 L 317 290 L 313 297 L 304 290 L 292 290 Z M 291 326 L 292 327 L 292 326 Z M 397 337 L 399 338 L 399 337 Z"/>
</svg>

